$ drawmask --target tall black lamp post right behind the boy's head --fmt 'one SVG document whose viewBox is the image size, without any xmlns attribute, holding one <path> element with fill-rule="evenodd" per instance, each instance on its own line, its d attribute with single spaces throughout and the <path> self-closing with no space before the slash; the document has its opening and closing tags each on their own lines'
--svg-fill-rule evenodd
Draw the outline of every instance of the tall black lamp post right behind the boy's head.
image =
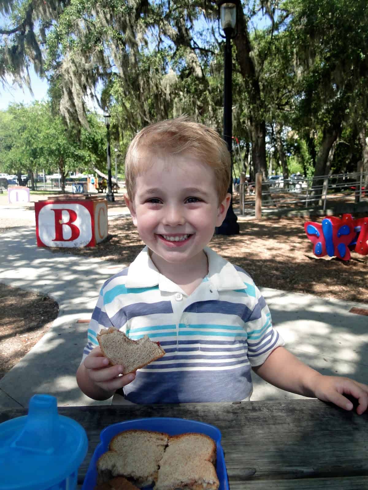
<svg viewBox="0 0 368 490">
<path fill-rule="evenodd" d="M 225 220 L 221 226 L 216 227 L 217 235 L 238 235 L 239 224 L 233 210 L 233 152 L 232 152 L 232 136 L 233 136 L 233 60 L 231 54 L 231 40 L 237 35 L 237 5 L 239 0 L 227 2 L 221 0 L 218 5 L 218 31 L 220 36 L 225 38 L 225 55 L 224 55 L 224 140 L 228 146 L 231 155 L 231 179 L 229 193 L 231 201 L 229 209 L 226 213 Z M 225 35 L 222 34 L 221 28 Z"/>
</svg>

